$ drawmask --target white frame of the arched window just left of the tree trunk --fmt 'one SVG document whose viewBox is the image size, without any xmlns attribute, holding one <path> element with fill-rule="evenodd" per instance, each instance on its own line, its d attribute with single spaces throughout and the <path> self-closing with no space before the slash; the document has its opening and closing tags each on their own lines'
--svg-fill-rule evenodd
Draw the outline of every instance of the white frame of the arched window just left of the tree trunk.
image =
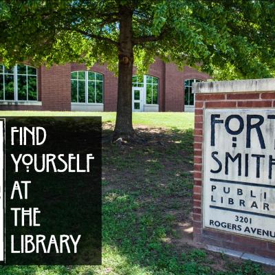
<svg viewBox="0 0 275 275">
<path fill-rule="evenodd" d="M 78 72 L 85 72 L 85 79 L 78 79 Z M 85 102 L 72 102 L 72 91 L 71 91 L 71 104 L 87 104 L 87 105 L 103 105 L 104 104 L 104 74 L 102 75 L 102 80 L 89 80 L 88 78 L 88 73 L 92 72 L 95 74 L 100 74 L 99 72 L 94 72 L 94 71 L 73 71 L 71 72 L 71 78 L 70 81 L 72 83 L 72 80 L 76 80 L 78 81 L 85 81 Z M 72 78 L 72 73 L 77 73 L 77 78 Z M 94 85 L 95 85 L 95 91 L 96 91 L 96 83 L 97 82 L 101 82 L 102 83 L 102 103 L 101 102 L 96 102 L 96 92 L 95 92 L 95 102 L 88 102 L 88 83 L 93 82 L 94 81 Z M 72 88 L 71 88 L 72 89 Z M 77 99 L 78 99 L 78 85 L 76 86 L 76 92 L 77 92 Z"/>
</svg>

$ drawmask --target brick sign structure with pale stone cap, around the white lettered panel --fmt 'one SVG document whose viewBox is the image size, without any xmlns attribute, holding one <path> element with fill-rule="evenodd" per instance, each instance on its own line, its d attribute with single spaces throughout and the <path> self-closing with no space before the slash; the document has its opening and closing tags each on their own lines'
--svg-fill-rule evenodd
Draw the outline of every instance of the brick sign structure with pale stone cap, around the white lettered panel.
<svg viewBox="0 0 275 275">
<path fill-rule="evenodd" d="M 231 109 L 236 110 L 236 113 L 238 110 L 244 109 L 275 111 L 275 79 L 196 83 L 193 85 L 193 90 L 196 94 L 193 189 L 194 241 L 197 244 L 205 245 L 206 248 L 208 245 L 214 245 L 219 248 L 275 259 L 275 238 L 274 241 L 269 241 L 213 228 L 203 228 L 203 184 L 208 184 L 203 182 L 203 140 L 206 136 L 206 133 L 203 132 L 205 122 L 203 114 L 207 109 Z M 210 131 L 210 128 L 206 131 Z M 274 129 L 272 131 L 274 132 Z M 273 152 L 267 153 L 272 154 Z M 275 189 L 273 190 L 275 192 Z"/>
</svg>

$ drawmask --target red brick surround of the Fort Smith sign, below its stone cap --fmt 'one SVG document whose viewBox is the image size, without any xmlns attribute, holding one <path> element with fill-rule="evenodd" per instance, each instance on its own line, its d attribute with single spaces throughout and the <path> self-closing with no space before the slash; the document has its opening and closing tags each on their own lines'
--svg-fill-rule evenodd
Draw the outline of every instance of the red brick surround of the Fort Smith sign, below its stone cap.
<svg viewBox="0 0 275 275">
<path fill-rule="evenodd" d="M 245 94 L 196 94 L 194 140 L 193 226 L 194 241 L 259 256 L 275 258 L 275 244 L 249 236 L 202 228 L 203 109 L 275 107 L 275 92 Z"/>
</svg>

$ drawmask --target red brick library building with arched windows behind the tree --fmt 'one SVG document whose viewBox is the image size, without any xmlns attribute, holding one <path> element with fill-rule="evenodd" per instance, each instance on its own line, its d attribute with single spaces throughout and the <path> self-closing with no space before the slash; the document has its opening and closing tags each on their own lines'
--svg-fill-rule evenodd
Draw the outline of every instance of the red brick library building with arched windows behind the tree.
<svg viewBox="0 0 275 275">
<path fill-rule="evenodd" d="M 194 111 L 192 83 L 209 78 L 156 59 L 147 75 L 133 74 L 133 111 Z M 104 65 L 0 65 L 0 110 L 116 111 L 117 94 L 118 78 Z"/>
</svg>

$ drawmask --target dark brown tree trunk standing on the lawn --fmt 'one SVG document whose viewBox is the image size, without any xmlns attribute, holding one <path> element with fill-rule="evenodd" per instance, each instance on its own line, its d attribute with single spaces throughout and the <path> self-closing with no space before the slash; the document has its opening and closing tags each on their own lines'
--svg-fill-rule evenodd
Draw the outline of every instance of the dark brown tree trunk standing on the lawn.
<svg viewBox="0 0 275 275">
<path fill-rule="evenodd" d="M 132 74 L 133 74 L 133 11 L 120 6 L 120 39 L 118 53 L 118 105 L 113 141 L 131 140 L 135 137 L 132 123 Z"/>
</svg>

